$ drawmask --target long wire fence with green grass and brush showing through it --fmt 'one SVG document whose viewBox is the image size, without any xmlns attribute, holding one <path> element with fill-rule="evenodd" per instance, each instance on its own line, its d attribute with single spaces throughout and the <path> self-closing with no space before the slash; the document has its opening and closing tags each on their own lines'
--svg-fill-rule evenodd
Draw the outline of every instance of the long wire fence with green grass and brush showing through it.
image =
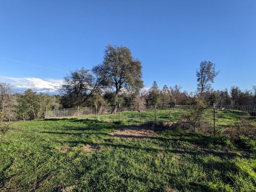
<svg viewBox="0 0 256 192">
<path fill-rule="evenodd" d="M 118 113 L 111 114 L 109 108 L 67 108 L 45 111 L 45 118 L 82 117 L 109 122 L 130 122 L 135 125 L 146 122 L 161 122 L 165 126 L 174 123 L 184 129 L 203 130 L 225 134 L 247 134 L 256 136 L 256 106 L 147 106 L 142 112 L 132 111 L 119 105 Z"/>
</svg>

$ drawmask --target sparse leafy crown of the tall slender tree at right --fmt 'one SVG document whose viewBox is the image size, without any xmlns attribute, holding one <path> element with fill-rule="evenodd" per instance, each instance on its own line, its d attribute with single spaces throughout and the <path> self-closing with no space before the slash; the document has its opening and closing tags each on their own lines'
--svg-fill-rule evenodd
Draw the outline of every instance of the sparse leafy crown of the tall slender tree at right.
<svg viewBox="0 0 256 192">
<path fill-rule="evenodd" d="M 215 72 L 215 64 L 210 61 L 204 61 L 200 64 L 200 70 L 196 69 L 196 77 L 197 77 L 197 84 L 198 92 L 200 92 L 200 96 L 206 88 L 210 88 L 211 84 L 214 83 L 214 78 L 219 74 L 220 71 Z"/>
</svg>

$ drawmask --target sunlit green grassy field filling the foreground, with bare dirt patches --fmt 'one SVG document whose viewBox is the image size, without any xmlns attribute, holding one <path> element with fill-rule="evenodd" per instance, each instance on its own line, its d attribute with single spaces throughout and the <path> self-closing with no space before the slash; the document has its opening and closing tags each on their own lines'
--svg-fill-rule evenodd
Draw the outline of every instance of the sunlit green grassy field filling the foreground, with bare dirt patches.
<svg viewBox="0 0 256 192">
<path fill-rule="evenodd" d="M 138 114 L 8 124 L 0 191 L 256 191 L 255 139 L 138 126 Z"/>
</svg>

